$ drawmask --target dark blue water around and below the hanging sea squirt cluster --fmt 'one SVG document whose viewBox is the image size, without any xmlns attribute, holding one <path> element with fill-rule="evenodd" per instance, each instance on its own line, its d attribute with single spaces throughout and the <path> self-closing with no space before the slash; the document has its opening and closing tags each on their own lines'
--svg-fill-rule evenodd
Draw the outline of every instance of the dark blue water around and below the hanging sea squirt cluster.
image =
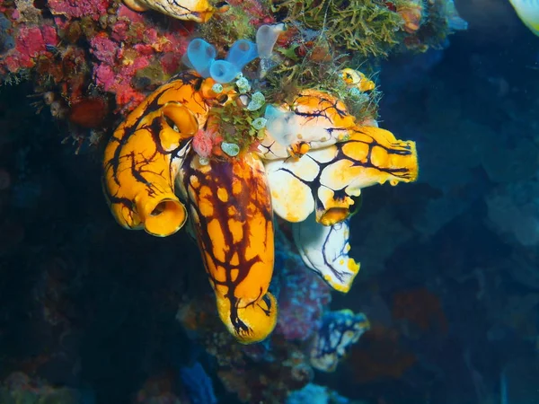
<svg viewBox="0 0 539 404">
<path fill-rule="evenodd" d="M 297 324 L 370 321 L 333 373 L 305 341 L 238 345 L 190 235 L 120 228 L 102 150 L 62 144 L 31 80 L 1 86 L 0 404 L 539 403 L 539 38 L 508 2 L 456 5 L 467 31 L 380 65 L 380 126 L 417 143 L 420 177 L 364 192 L 352 290 L 329 303 L 277 244 L 272 287 L 313 304 Z"/>
</svg>

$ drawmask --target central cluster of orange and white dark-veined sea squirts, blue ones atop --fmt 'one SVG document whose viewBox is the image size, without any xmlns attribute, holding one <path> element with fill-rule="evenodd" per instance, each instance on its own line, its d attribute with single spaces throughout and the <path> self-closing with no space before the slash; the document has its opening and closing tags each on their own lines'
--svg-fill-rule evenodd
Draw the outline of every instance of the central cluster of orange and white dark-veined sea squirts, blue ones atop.
<svg viewBox="0 0 539 404">
<path fill-rule="evenodd" d="M 128 115 L 103 162 L 119 224 L 163 237 L 190 217 L 219 316 L 242 343 L 267 338 L 277 320 L 268 291 L 274 213 L 292 223 L 305 264 L 348 292 L 359 269 L 349 257 L 354 198 L 370 185 L 418 176 L 413 142 L 374 120 L 358 124 L 331 92 L 298 89 L 266 102 L 263 79 L 250 81 L 242 70 L 256 57 L 269 59 L 282 31 L 263 25 L 256 43 L 236 41 L 225 59 L 192 40 L 184 57 L 191 70 Z M 335 75 L 350 92 L 374 88 L 353 69 Z"/>
</svg>

